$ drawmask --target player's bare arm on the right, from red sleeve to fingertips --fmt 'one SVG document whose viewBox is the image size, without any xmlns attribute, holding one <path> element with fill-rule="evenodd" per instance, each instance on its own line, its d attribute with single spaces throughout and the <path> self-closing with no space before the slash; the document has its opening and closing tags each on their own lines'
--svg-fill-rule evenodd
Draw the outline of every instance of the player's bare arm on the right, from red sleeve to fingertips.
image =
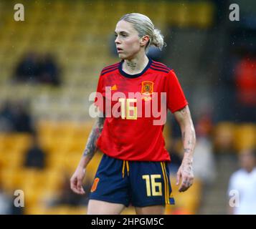
<svg viewBox="0 0 256 229">
<path fill-rule="evenodd" d="M 182 179 L 181 186 L 179 187 L 180 192 L 184 192 L 193 184 L 193 154 L 194 147 L 196 145 L 196 134 L 194 125 L 191 120 L 189 106 L 174 112 L 174 117 L 181 128 L 182 142 L 184 147 L 184 157 L 181 163 L 181 167 L 177 172 L 177 182 L 179 185 L 180 178 Z"/>
</svg>

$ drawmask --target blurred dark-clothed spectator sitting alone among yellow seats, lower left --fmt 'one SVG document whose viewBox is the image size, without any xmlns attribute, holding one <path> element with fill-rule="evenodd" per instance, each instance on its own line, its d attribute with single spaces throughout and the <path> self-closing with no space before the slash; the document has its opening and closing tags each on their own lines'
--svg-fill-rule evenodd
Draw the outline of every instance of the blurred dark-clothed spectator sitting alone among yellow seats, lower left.
<svg viewBox="0 0 256 229">
<path fill-rule="evenodd" d="M 27 150 L 24 166 L 43 169 L 45 167 L 45 153 L 39 146 L 37 135 L 32 137 L 32 147 Z"/>
</svg>

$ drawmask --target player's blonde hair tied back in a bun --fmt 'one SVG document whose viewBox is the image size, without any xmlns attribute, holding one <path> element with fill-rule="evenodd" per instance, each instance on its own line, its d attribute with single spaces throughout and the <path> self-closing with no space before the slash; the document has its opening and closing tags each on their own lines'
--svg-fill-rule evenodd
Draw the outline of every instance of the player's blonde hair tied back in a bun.
<svg viewBox="0 0 256 229">
<path fill-rule="evenodd" d="M 155 29 L 151 19 L 144 14 L 131 13 L 125 14 L 120 18 L 119 21 L 128 21 L 133 24 L 133 28 L 138 31 L 138 36 L 142 37 L 145 35 L 149 36 L 149 42 L 146 45 L 146 52 L 150 46 L 155 46 L 162 50 L 166 43 L 163 42 L 163 35 L 159 29 Z"/>
</svg>

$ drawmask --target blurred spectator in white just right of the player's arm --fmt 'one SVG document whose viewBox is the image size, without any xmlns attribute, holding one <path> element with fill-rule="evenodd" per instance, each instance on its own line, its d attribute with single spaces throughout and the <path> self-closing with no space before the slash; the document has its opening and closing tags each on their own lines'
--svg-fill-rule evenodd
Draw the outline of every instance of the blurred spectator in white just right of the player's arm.
<svg viewBox="0 0 256 229">
<path fill-rule="evenodd" d="M 216 167 L 211 140 L 212 119 L 204 114 L 196 122 L 196 147 L 194 150 L 194 177 L 211 185 L 216 178 Z"/>
</svg>

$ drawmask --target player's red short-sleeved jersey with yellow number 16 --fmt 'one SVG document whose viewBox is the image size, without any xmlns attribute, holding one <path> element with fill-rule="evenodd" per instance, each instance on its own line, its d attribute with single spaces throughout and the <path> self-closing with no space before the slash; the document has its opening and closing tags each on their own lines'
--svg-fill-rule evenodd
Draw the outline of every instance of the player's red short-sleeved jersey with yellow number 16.
<svg viewBox="0 0 256 229">
<path fill-rule="evenodd" d="M 140 74 L 123 72 L 122 64 L 123 61 L 105 67 L 100 74 L 97 92 L 106 103 L 102 104 L 96 97 L 95 105 L 107 117 L 98 138 L 98 148 L 120 160 L 170 161 L 163 139 L 164 123 L 153 123 L 159 117 L 154 116 L 152 110 L 155 107 L 159 111 L 166 106 L 166 115 L 167 109 L 176 112 L 188 104 L 176 74 L 151 59 Z M 161 92 L 166 94 L 165 104 L 161 103 Z M 141 97 L 134 97 L 134 94 Z M 158 104 L 154 106 L 156 101 Z M 148 115 L 146 107 L 151 108 Z"/>
</svg>

